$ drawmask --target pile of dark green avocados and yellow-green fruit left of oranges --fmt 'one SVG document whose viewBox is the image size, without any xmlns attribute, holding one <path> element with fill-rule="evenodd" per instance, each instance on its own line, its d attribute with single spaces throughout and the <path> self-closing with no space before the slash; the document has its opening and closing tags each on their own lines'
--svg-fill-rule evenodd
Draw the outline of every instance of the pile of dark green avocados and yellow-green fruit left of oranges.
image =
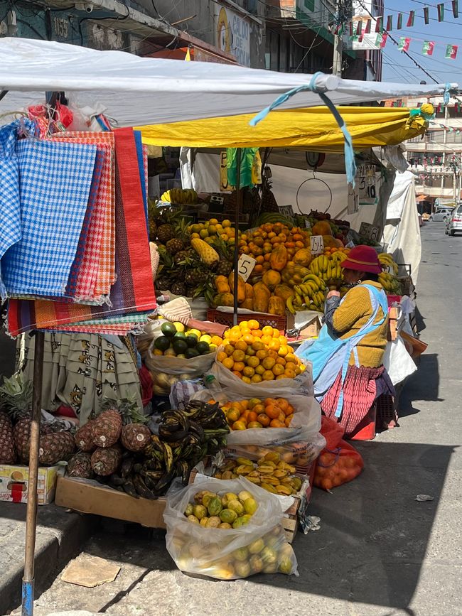
<svg viewBox="0 0 462 616">
<path fill-rule="evenodd" d="M 210 336 L 204 331 L 187 328 L 178 322 L 166 321 L 161 325 L 161 333 L 161 336 L 154 339 L 154 355 L 190 360 L 215 352 L 223 343 L 220 336 Z"/>
</svg>

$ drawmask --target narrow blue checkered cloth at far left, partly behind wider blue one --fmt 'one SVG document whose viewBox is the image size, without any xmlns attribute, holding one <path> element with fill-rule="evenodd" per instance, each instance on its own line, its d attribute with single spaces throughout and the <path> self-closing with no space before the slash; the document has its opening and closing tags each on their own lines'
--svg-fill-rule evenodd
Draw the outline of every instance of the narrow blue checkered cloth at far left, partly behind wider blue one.
<svg viewBox="0 0 462 616">
<path fill-rule="evenodd" d="M 21 200 L 19 197 L 19 169 L 16 156 L 18 129 L 33 134 L 31 120 L 16 120 L 0 128 L 0 259 L 21 239 Z M 6 299 L 6 288 L 1 277 L 0 298 Z"/>
</svg>

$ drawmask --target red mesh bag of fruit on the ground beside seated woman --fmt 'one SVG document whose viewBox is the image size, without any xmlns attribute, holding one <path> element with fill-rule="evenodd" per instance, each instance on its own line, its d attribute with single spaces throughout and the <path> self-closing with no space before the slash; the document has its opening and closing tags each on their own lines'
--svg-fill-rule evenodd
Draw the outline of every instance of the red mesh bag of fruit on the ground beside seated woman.
<svg viewBox="0 0 462 616">
<path fill-rule="evenodd" d="M 343 428 L 328 417 L 322 418 L 321 434 L 326 448 L 318 458 L 313 483 L 323 490 L 331 490 L 358 477 L 364 461 L 353 445 L 343 441 Z"/>
</svg>

